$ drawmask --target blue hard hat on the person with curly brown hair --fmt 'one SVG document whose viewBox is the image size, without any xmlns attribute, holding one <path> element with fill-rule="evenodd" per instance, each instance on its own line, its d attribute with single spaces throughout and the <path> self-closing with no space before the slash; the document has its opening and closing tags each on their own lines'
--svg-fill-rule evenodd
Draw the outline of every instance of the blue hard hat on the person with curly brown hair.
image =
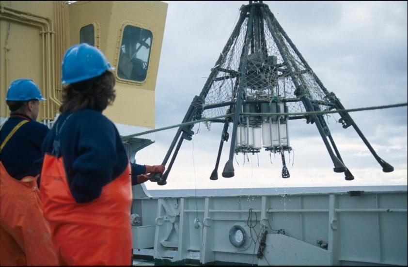
<svg viewBox="0 0 408 267">
<path fill-rule="evenodd" d="M 63 84 L 97 77 L 107 70 L 114 70 L 105 55 L 96 47 L 80 44 L 66 50 L 61 80 Z"/>
</svg>

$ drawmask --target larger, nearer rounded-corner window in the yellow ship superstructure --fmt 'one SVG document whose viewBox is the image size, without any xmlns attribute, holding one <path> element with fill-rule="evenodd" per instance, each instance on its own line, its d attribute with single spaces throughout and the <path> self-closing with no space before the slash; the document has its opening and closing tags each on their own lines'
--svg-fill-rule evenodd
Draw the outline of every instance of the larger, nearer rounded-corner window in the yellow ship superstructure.
<svg viewBox="0 0 408 267">
<path fill-rule="evenodd" d="M 146 79 L 152 39 L 153 34 L 149 30 L 125 26 L 117 68 L 119 78 L 133 81 Z"/>
</svg>

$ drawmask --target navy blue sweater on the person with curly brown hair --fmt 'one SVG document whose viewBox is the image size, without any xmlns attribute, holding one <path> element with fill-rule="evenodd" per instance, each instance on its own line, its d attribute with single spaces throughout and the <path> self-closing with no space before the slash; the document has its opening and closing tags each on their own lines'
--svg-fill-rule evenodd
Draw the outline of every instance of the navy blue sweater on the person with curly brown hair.
<svg viewBox="0 0 408 267">
<path fill-rule="evenodd" d="M 116 126 L 101 112 L 91 109 L 61 114 L 42 145 L 52 154 L 58 128 L 60 155 L 71 193 L 78 203 L 98 198 L 102 187 L 122 174 L 128 163 Z M 58 138 L 57 138 L 58 139 Z M 132 164 L 132 184 L 145 166 Z"/>
</svg>

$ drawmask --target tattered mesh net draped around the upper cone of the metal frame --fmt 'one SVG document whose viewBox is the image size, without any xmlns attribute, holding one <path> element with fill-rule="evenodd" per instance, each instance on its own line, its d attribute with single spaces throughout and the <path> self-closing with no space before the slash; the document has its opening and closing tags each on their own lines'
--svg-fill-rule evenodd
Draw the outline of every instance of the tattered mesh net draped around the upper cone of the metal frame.
<svg viewBox="0 0 408 267">
<path fill-rule="evenodd" d="M 237 89 L 243 84 L 246 99 L 266 100 L 273 99 L 286 102 L 289 113 L 306 111 L 301 96 L 308 97 L 320 110 L 329 110 L 330 100 L 308 67 L 280 31 L 278 22 L 271 13 L 263 16 L 259 13 L 254 18 L 253 27 L 248 29 L 249 18 L 243 21 L 239 33 L 235 35 L 230 49 L 222 58 L 221 63 L 214 68 L 217 75 L 209 83 L 208 94 L 204 99 L 204 107 L 235 101 Z M 243 55 L 245 40 L 250 34 L 249 52 Z M 246 79 L 241 77 L 243 57 L 247 57 Z M 295 81 L 304 88 L 301 95 L 296 95 Z M 225 115 L 228 106 L 204 110 L 202 116 L 211 118 Z M 209 127 L 207 124 L 207 127 Z"/>
</svg>

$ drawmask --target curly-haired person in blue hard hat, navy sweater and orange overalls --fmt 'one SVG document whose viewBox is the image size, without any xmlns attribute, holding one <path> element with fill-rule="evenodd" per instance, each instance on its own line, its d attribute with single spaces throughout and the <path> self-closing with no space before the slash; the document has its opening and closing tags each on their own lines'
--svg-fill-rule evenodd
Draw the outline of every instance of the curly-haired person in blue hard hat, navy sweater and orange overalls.
<svg viewBox="0 0 408 267">
<path fill-rule="evenodd" d="M 113 68 L 88 44 L 62 64 L 61 115 L 42 145 L 41 200 L 60 265 L 130 265 L 131 184 L 164 166 L 130 164 L 116 126 L 102 114 L 115 98 Z M 139 174 L 139 175 L 138 175 Z"/>
</svg>

